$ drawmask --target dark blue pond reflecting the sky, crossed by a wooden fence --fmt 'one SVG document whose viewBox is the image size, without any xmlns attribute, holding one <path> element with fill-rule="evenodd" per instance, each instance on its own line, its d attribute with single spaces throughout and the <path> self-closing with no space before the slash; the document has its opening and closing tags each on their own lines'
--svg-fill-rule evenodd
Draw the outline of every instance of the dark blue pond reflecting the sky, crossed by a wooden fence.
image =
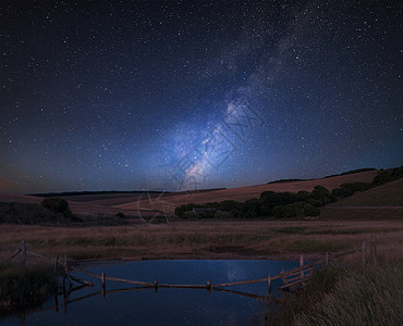
<svg viewBox="0 0 403 326">
<path fill-rule="evenodd" d="M 161 260 L 98 262 L 81 268 L 148 283 L 158 279 L 160 284 L 206 285 L 210 280 L 213 285 L 265 278 L 297 265 L 297 262 L 266 260 Z M 75 290 L 68 298 L 63 294 L 50 298 L 36 312 L 1 319 L 0 325 L 242 325 L 264 311 L 266 303 L 259 297 L 268 296 L 267 283 L 225 288 L 233 293 L 213 289 L 137 287 L 130 290 L 134 286 L 109 280 L 102 296 L 99 279 L 80 272 L 72 275 L 96 285 Z M 272 289 L 280 284 L 281 280 L 274 280 Z M 113 291 L 118 289 L 126 290 Z"/>
</svg>

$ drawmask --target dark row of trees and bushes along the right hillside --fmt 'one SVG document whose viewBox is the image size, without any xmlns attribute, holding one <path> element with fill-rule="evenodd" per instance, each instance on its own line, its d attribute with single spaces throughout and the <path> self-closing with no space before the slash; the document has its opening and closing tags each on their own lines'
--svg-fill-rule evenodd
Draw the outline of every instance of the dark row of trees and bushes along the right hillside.
<svg viewBox="0 0 403 326">
<path fill-rule="evenodd" d="M 295 217 L 318 216 L 320 208 L 350 197 L 356 191 L 380 186 L 403 177 L 403 166 L 381 170 L 370 183 L 346 183 L 329 191 L 317 185 L 314 190 L 294 192 L 264 191 L 259 198 L 244 202 L 224 200 L 206 204 L 187 203 L 178 206 L 175 215 L 182 218 L 260 218 L 260 217 Z"/>
</svg>

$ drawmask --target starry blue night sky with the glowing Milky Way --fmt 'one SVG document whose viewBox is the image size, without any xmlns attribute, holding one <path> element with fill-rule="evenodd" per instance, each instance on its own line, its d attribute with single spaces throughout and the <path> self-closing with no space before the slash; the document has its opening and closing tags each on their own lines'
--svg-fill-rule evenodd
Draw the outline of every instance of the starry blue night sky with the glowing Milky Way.
<svg viewBox="0 0 403 326">
<path fill-rule="evenodd" d="M 0 191 L 403 164 L 401 1 L 0 3 Z"/>
</svg>

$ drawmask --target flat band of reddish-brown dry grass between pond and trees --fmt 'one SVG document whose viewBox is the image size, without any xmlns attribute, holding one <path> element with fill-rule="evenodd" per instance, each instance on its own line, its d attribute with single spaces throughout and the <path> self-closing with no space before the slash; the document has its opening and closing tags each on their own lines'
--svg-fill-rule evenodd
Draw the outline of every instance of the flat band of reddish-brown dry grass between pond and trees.
<svg viewBox="0 0 403 326">
<path fill-rule="evenodd" d="M 161 225 L 41 227 L 3 225 L 0 259 L 21 240 L 47 255 L 74 259 L 247 258 L 320 255 L 358 248 L 378 235 L 379 248 L 403 246 L 403 221 L 204 221 Z"/>
</svg>

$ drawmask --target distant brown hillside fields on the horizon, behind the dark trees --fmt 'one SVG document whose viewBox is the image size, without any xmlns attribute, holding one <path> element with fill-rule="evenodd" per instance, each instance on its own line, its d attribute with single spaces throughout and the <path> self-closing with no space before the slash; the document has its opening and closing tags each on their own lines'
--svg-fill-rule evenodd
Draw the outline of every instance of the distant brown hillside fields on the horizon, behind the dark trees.
<svg viewBox="0 0 403 326">
<path fill-rule="evenodd" d="M 62 198 L 70 202 L 74 214 L 112 216 L 118 212 L 123 212 L 127 216 L 146 217 L 155 215 L 156 211 L 173 214 L 178 205 L 190 202 L 202 204 L 223 200 L 245 201 L 251 198 L 259 198 L 260 193 L 267 190 L 277 192 L 312 191 L 316 185 L 331 190 L 344 183 L 369 183 L 377 174 L 377 171 L 369 171 L 313 180 L 293 180 L 232 189 L 205 189 L 169 193 L 95 193 L 64 196 Z M 41 200 L 42 198 L 34 196 L 0 193 L 0 201 L 40 203 Z"/>
</svg>

